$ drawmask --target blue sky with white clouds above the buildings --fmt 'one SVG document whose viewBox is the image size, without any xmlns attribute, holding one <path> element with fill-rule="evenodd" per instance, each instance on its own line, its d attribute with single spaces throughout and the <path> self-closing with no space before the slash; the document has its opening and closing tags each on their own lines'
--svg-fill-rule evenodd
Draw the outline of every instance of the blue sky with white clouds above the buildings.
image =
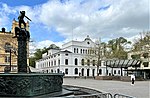
<svg viewBox="0 0 150 98">
<path fill-rule="evenodd" d="M 149 0 L 0 0 L 0 27 L 10 31 L 20 10 L 32 20 L 31 48 L 61 46 L 87 35 L 93 40 L 131 40 L 150 31 Z"/>
</svg>

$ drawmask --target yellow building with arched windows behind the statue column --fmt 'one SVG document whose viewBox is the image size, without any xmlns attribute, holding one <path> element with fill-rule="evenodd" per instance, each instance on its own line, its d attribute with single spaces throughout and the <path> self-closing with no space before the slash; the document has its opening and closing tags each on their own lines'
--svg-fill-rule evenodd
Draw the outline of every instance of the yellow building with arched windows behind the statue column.
<svg viewBox="0 0 150 98">
<path fill-rule="evenodd" d="M 12 72 L 17 72 L 17 38 L 15 36 L 15 27 L 19 27 L 18 21 L 15 19 L 12 22 L 12 28 L 10 32 L 7 32 L 5 28 L 0 31 L 0 72 L 4 72 L 5 67 L 10 68 Z M 29 22 L 26 23 L 26 30 L 29 31 Z M 29 44 L 27 42 L 27 54 L 29 54 Z M 29 58 L 29 55 L 27 55 Z M 10 62 L 11 60 L 11 62 Z M 29 65 L 29 59 L 27 60 Z"/>
</svg>

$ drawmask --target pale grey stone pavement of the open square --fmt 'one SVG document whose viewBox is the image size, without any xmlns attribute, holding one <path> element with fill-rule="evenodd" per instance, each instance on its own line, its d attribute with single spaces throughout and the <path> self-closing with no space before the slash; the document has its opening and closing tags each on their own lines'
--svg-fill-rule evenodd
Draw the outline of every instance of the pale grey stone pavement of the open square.
<svg viewBox="0 0 150 98">
<path fill-rule="evenodd" d="M 131 82 L 123 81 L 64 78 L 63 85 L 92 88 L 112 95 L 119 93 L 136 98 L 150 98 L 150 81 L 135 81 L 132 86 Z"/>
</svg>

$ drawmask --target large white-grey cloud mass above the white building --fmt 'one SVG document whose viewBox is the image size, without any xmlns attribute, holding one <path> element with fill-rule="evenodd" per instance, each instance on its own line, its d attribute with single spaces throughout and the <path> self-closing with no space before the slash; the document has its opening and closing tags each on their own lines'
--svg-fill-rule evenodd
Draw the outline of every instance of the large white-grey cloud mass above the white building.
<svg viewBox="0 0 150 98">
<path fill-rule="evenodd" d="M 73 34 L 79 39 L 86 35 L 111 39 L 134 36 L 149 29 L 149 11 L 145 8 L 149 6 L 148 0 L 109 1 L 67 1 L 64 4 L 52 0 L 41 6 L 39 20 L 47 27 L 55 27 L 66 38 L 71 38 Z M 124 28 L 129 29 L 124 32 Z"/>
</svg>

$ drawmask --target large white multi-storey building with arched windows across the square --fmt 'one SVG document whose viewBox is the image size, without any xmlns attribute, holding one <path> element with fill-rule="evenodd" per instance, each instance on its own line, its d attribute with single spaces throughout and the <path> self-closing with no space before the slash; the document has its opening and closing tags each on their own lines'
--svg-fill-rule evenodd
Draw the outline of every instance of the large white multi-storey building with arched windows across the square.
<svg viewBox="0 0 150 98">
<path fill-rule="evenodd" d="M 36 68 L 47 73 L 62 72 L 65 76 L 96 76 L 96 58 L 87 58 L 92 47 L 95 47 L 95 43 L 89 36 L 84 41 L 70 41 L 63 44 L 62 49 L 50 49 L 43 54 L 42 59 L 36 61 Z M 111 68 L 107 68 L 107 73 L 111 71 Z M 106 75 L 103 62 L 99 67 L 99 75 Z"/>
</svg>

